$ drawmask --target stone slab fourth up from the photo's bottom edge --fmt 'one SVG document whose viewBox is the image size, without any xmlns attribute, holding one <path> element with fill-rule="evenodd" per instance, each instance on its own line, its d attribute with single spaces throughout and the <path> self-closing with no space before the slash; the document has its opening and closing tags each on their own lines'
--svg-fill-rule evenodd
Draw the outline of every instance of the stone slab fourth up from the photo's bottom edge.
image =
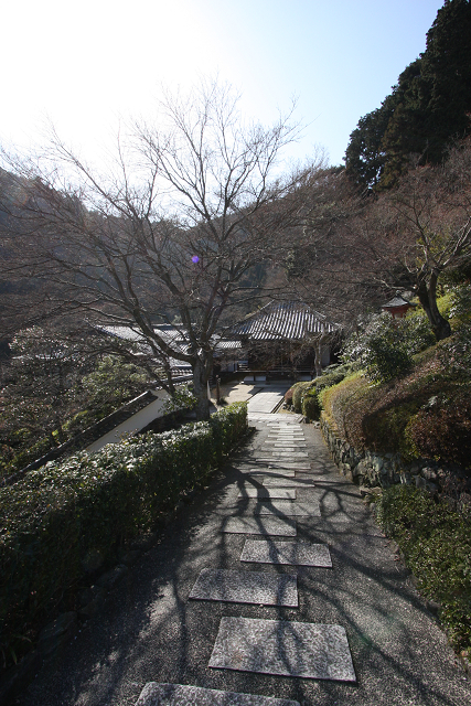
<svg viewBox="0 0 471 706">
<path fill-rule="evenodd" d="M 327 544 L 277 542 L 276 539 L 247 539 L 240 561 L 332 568 L 332 558 Z"/>
</svg>

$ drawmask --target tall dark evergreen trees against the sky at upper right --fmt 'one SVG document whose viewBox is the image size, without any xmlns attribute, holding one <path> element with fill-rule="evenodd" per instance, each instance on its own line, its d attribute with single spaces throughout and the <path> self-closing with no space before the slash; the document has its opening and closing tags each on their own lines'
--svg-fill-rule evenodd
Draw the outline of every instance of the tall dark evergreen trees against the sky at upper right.
<svg viewBox="0 0 471 706">
<path fill-rule="evenodd" d="M 387 189 L 410 163 L 439 163 L 471 131 L 471 3 L 447 0 L 427 47 L 399 75 L 381 107 L 363 116 L 345 152 L 363 189 Z"/>
</svg>

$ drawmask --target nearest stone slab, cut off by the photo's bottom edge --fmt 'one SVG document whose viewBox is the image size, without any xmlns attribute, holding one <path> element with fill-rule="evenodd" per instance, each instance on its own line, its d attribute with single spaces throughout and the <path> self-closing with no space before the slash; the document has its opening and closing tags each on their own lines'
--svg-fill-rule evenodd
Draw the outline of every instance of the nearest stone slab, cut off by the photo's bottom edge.
<svg viewBox="0 0 471 706">
<path fill-rule="evenodd" d="M 136 706 L 300 706 L 300 704 L 286 698 L 149 682 L 143 687 Z"/>
</svg>

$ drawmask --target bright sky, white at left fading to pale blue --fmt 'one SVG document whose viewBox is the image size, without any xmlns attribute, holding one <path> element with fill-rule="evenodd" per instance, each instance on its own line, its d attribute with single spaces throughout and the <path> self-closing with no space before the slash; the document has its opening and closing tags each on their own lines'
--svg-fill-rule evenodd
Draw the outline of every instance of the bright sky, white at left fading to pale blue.
<svg viewBox="0 0 471 706">
<path fill-rule="evenodd" d="M 229 82 L 268 124 L 297 97 L 290 156 L 342 163 L 358 119 L 426 46 L 442 0 L 13 0 L 3 3 L 0 142 L 45 118 L 93 154 L 119 120 L 151 119 L 161 86 Z"/>
</svg>

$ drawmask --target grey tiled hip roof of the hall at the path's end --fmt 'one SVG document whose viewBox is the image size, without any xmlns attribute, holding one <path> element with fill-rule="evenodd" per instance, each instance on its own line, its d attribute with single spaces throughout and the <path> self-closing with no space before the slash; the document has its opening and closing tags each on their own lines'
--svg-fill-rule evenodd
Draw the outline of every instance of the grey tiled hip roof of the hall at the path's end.
<svg viewBox="0 0 471 706">
<path fill-rule="evenodd" d="M 313 311 L 308 304 L 271 301 L 236 324 L 231 335 L 251 341 L 300 341 L 315 334 L 333 333 L 338 329 L 335 323 L 328 321 L 323 314 Z"/>
</svg>

